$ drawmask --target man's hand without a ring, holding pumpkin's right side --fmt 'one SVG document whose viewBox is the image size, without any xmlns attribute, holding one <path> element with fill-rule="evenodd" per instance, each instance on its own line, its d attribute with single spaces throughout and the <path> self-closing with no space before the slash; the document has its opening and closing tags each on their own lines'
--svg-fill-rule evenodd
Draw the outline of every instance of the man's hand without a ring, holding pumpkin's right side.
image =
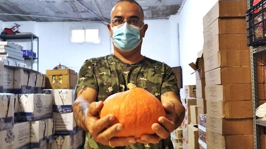
<svg viewBox="0 0 266 149">
<path fill-rule="evenodd" d="M 164 96 L 164 98 L 163 98 Z M 173 100 L 176 98 L 177 100 Z M 167 99 L 171 99 L 168 101 Z M 151 126 L 151 129 L 155 132 L 154 135 L 144 134 L 141 138 L 137 138 L 137 141 L 143 144 L 158 143 L 161 139 L 169 137 L 170 133 L 177 129 L 185 114 L 185 109 L 180 101 L 178 101 L 177 95 L 174 92 L 167 92 L 161 96 L 161 100 L 166 112 L 166 117 L 159 117 L 158 122 Z M 173 100 L 173 101 L 172 101 Z"/>
</svg>

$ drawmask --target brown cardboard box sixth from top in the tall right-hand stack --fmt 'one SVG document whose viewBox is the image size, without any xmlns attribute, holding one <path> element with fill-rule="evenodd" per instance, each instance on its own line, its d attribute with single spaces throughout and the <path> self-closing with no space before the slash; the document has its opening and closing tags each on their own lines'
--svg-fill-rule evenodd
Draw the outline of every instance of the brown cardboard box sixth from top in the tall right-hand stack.
<svg viewBox="0 0 266 149">
<path fill-rule="evenodd" d="M 251 101 L 251 84 L 224 84 L 205 87 L 206 100 Z"/>
</svg>

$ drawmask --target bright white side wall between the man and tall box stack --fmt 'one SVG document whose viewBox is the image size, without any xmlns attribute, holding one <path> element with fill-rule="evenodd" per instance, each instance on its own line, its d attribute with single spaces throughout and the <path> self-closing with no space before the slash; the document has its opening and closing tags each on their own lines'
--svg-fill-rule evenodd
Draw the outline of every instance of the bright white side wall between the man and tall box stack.
<svg viewBox="0 0 266 149">
<path fill-rule="evenodd" d="M 217 0 L 187 0 L 179 16 L 180 65 L 183 69 L 183 85 L 196 84 L 193 69 L 188 65 L 196 61 L 203 49 L 203 17 Z"/>
</svg>

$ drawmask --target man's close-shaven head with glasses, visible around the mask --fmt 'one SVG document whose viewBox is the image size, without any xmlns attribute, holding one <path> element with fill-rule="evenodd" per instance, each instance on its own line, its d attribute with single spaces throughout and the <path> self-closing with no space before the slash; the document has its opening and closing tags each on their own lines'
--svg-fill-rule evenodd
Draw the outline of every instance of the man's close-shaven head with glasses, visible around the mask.
<svg viewBox="0 0 266 149">
<path fill-rule="evenodd" d="M 143 9 L 141 8 L 141 6 L 135 2 L 134 0 L 120 0 L 119 2 L 117 2 L 115 4 L 115 6 L 113 7 L 112 11 L 111 11 L 111 22 L 107 24 L 108 29 L 110 31 L 110 36 L 113 36 L 113 29 L 112 27 L 117 26 L 117 24 L 115 24 L 115 22 L 113 21 L 114 19 L 120 19 L 122 22 L 128 22 L 129 20 L 139 20 L 139 23 L 137 23 L 137 25 L 135 24 L 135 26 L 138 26 L 140 29 L 140 39 L 142 39 L 145 36 L 145 32 L 148 29 L 148 25 L 144 24 L 144 13 L 143 13 Z M 142 43 L 142 41 L 141 41 Z M 140 45 L 138 45 L 137 48 L 138 51 L 140 51 L 141 49 L 141 43 Z M 137 51 L 137 50 L 133 50 L 133 51 Z M 121 52 L 121 51 L 120 51 Z"/>
</svg>

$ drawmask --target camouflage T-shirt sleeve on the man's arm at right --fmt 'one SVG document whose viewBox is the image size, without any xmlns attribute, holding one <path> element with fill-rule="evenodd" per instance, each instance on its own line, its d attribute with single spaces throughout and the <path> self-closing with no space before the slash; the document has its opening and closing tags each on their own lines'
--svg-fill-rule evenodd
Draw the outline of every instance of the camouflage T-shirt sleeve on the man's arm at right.
<svg viewBox="0 0 266 149">
<path fill-rule="evenodd" d="M 166 92 L 175 92 L 180 96 L 179 88 L 177 87 L 177 78 L 171 67 L 165 64 L 164 79 L 161 87 L 161 95 Z"/>
</svg>

